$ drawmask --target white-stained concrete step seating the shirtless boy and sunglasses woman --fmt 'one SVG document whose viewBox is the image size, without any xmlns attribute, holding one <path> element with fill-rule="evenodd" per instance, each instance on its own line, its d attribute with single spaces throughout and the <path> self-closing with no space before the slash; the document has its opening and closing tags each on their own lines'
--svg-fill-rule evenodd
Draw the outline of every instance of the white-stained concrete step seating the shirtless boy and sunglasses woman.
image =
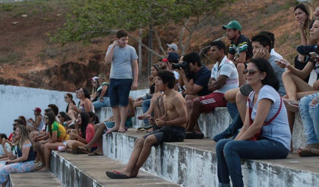
<svg viewBox="0 0 319 187">
<path fill-rule="evenodd" d="M 128 161 L 135 140 L 145 133 L 129 129 L 103 137 L 104 154 Z M 185 187 L 218 186 L 216 143 L 209 139 L 186 139 L 153 147 L 143 168 L 166 180 Z M 58 160 L 58 159 L 57 159 Z M 242 160 L 245 186 L 248 187 L 313 187 L 318 186 L 319 157 L 301 158 L 291 153 L 279 160 Z M 109 166 L 110 170 L 119 168 Z"/>
</svg>

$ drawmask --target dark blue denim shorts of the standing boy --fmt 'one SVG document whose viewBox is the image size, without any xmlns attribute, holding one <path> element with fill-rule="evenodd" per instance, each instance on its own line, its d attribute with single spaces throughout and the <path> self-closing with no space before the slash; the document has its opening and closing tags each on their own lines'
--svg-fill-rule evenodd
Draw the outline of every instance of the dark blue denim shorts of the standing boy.
<svg viewBox="0 0 319 187">
<path fill-rule="evenodd" d="M 111 107 L 117 105 L 129 106 L 129 94 L 132 86 L 132 79 L 110 79 L 108 95 Z"/>
</svg>

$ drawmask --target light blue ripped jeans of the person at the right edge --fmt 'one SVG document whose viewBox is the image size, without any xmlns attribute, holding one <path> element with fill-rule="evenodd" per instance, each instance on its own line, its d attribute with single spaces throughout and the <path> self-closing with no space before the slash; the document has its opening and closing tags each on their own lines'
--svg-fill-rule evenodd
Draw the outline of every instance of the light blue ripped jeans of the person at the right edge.
<svg viewBox="0 0 319 187">
<path fill-rule="evenodd" d="M 318 103 L 312 104 L 313 99 L 319 101 L 319 93 L 306 95 L 299 101 L 300 117 L 307 144 L 319 142 L 319 107 Z"/>
</svg>

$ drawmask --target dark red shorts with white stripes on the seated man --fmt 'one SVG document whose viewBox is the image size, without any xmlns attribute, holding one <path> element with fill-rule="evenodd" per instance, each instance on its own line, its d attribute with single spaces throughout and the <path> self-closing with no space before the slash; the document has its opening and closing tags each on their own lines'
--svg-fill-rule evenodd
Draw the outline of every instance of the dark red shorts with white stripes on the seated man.
<svg viewBox="0 0 319 187">
<path fill-rule="evenodd" d="M 213 92 L 209 95 L 199 96 L 199 101 L 204 108 L 201 112 L 209 113 L 216 107 L 226 107 L 227 100 L 224 95 L 223 93 Z"/>
</svg>

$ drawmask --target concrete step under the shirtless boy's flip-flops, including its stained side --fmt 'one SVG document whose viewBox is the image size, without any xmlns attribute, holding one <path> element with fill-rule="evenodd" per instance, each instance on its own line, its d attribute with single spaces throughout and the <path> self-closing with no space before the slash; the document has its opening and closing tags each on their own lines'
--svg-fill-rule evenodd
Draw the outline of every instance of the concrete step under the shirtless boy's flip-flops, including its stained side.
<svg viewBox="0 0 319 187">
<path fill-rule="evenodd" d="M 105 155 L 87 156 L 53 151 L 50 164 L 52 172 L 67 187 L 180 186 L 142 170 L 136 178 L 110 179 L 105 171 L 121 170 L 126 163 Z"/>
</svg>

